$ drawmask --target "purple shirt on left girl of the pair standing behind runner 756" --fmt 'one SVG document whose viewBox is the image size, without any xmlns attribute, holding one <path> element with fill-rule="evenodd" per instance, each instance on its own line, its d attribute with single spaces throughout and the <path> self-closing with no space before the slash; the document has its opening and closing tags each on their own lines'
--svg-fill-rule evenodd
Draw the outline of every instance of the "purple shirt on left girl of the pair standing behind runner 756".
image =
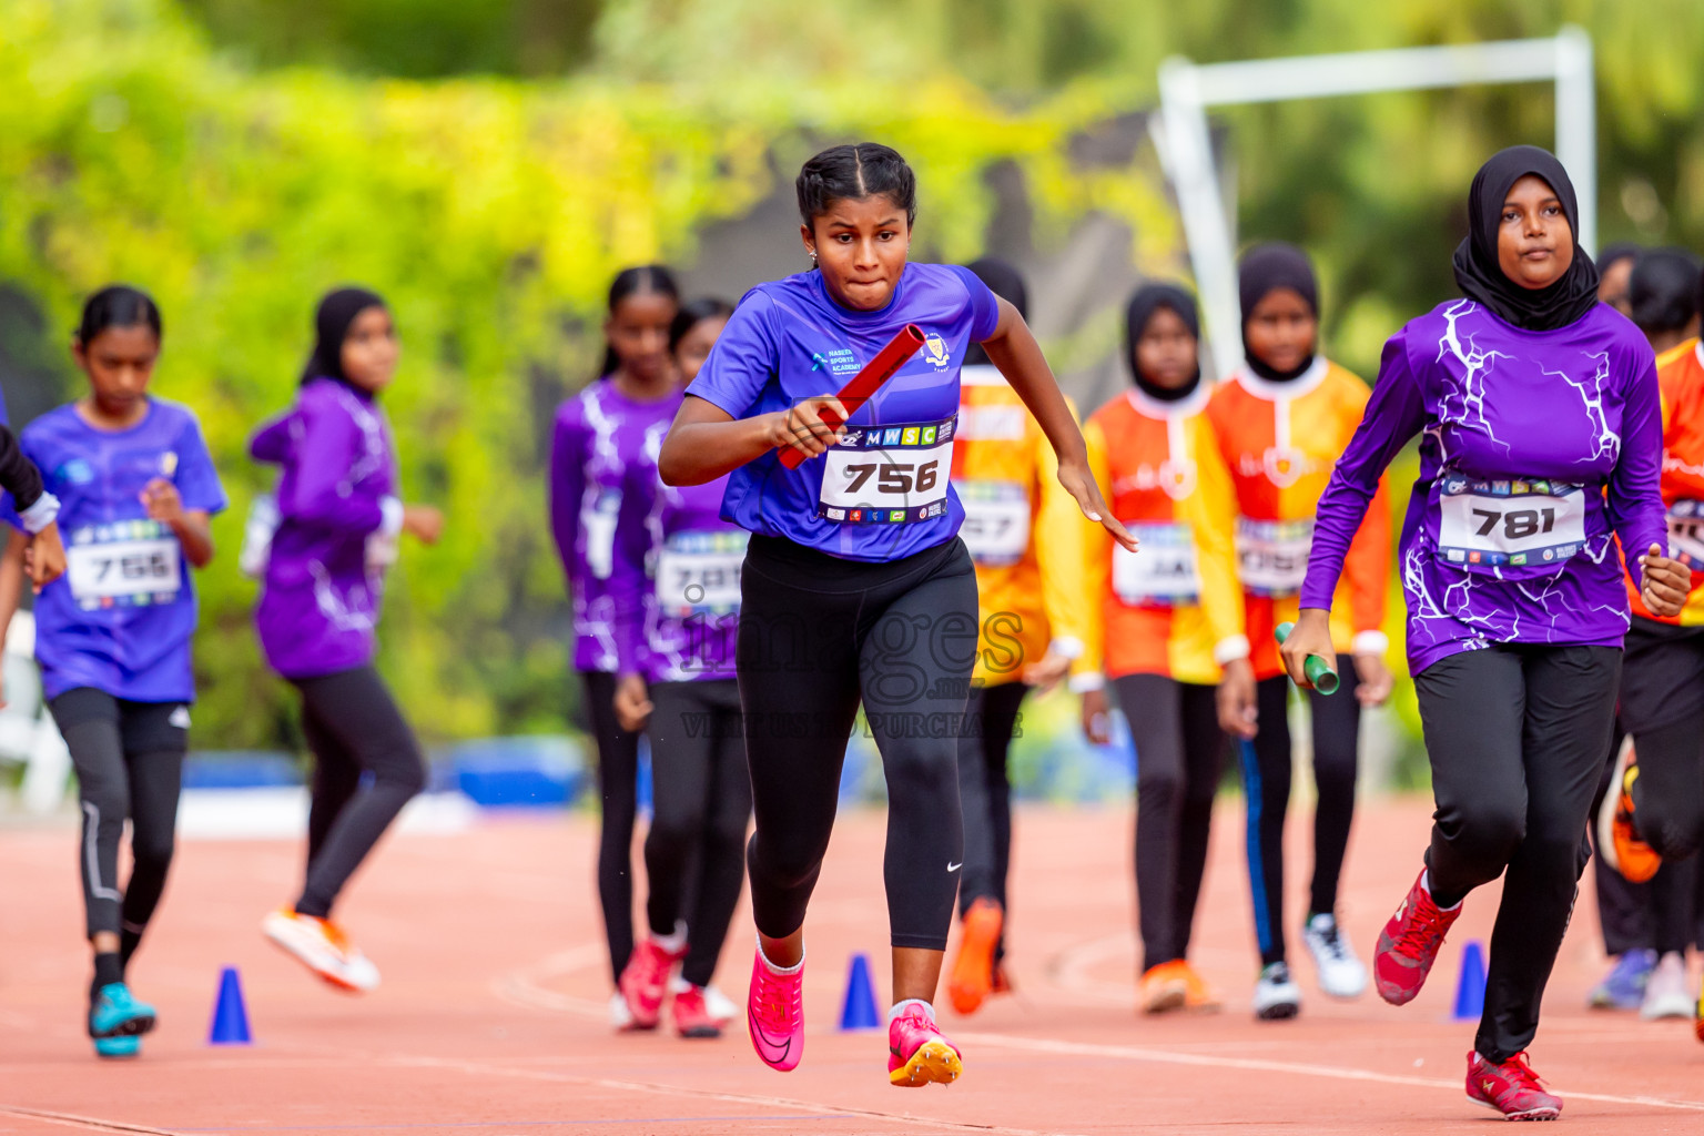
<svg viewBox="0 0 1704 1136">
<path fill-rule="evenodd" d="M 646 451 L 646 436 L 675 421 L 682 395 L 634 402 L 610 380 L 598 380 L 556 412 L 550 439 L 550 531 L 574 601 L 574 669 L 637 669 L 642 601 L 649 581 L 644 518 L 656 480 L 627 489 L 627 468 Z"/>
</svg>

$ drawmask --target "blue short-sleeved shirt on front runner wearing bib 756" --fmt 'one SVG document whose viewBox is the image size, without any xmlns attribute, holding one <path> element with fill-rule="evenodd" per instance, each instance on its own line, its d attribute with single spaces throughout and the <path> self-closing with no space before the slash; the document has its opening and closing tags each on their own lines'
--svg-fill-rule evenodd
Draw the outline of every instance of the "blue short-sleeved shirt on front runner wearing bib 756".
<svg viewBox="0 0 1704 1136">
<path fill-rule="evenodd" d="M 953 540 L 964 519 L 949 477 L 959 364 L 999 322 L 988 286 L 946 264 L 907 264 L 879 312 L 840 307 L 821 273 L 748 291 L 687 387 L 736 419 L 835 393 L 907 324 L 924 347 L 852 416 L 845 443 L 796 470 L 779 451 L 734 470 L 722 516 L 847 560 L 898 560 Z"/>
</svg>

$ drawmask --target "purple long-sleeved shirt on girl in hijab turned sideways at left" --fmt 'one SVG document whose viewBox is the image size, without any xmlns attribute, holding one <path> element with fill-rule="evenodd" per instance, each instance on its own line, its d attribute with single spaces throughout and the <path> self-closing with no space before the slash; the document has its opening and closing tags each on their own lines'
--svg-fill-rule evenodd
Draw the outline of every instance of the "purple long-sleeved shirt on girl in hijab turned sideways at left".
<svg viewBox="0 0 1704 1136">
<path fill-rule="evenodd" d="M 285 678 L 366 666 L 385 591 L 370 538 L 402 528 L 383 412 L 370 393 L 315 378 L 256 433 L 249 455 L 283 467 L 279 525 L 254 611 L 266 661 Z"/>
</svg>

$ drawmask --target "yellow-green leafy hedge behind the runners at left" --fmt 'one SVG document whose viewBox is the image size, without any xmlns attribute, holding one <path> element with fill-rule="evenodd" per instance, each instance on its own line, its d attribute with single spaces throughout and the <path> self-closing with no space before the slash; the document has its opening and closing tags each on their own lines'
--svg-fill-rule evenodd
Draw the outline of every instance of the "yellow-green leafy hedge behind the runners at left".
<svg viewBox="0 0 1704 1136">
<path fill-rule="evenodd" d="M 371 284 L 400 325 L 385 400 L 402 482 L 445 504 L 448 528 L 394 576 L 382 664 L 423 731 L 453 737 L 561 729 L 552 410 L 595 366 L 610 276 L 690 257 L 695 232 L 769 192 L 772 155 L 786 169 L 823 138 L 893 141 L 918 165 L 939 255 L 978 252 L 997 162 L 1022 170 L 1055 225 L 1108 209 L 1150 240 L 1172 232 L 1140 167 L 1070 167 L 1070 140 L 1109 104 L 1007 111 L 946 70 L 879 90 L 825 75 L 687 99 L 598 77 L 257 72 L 167 0 L 0 0 L 0 288 L 34 296 L 61 342 L 89 290 L 153 291 L 167 324 L 155 390 L 199 412 L 232 491 L 201 577 L 208 746 L 273 744 L 293 717 L 261 666 L 235 548 L 269 480 L 245 438 L 291 399 L 325 288 Z"/>
</svg>

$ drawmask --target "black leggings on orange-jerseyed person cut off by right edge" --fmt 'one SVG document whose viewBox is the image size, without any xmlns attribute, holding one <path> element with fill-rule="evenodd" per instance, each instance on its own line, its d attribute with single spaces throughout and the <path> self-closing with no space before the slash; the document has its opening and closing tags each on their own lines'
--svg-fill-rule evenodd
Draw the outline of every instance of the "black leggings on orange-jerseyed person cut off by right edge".
<svg viewBox="0 0 1704 1136">
<path fill-rule="evenodd" d="M 1695 933 L 1704 846 L 1704 627 L 1632 622 L 1621 717 L 1639 756 L 1632 787 L 1639 836 L 1663 857 L 1649 882 L 1651 945 L 1685 950 Z"/>
</svg>

